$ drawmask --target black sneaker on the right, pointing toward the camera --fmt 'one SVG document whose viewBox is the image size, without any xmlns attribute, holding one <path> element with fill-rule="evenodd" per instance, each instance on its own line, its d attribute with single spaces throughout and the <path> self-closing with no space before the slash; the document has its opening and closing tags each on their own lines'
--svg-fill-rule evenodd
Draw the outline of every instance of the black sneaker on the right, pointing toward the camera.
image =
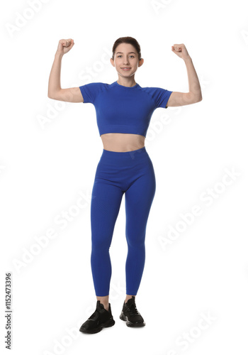
<svg viewBox="0 0 248 355">
<path fill-rule="evenodd" d="M 128 302 L 123 304 L 123 310 L 120 313 L 120 319 L 125 320 L 128 327 L 144 327 L 145 322 L 135 305 L 135 296 L 132 296 Z"/>
</svg>

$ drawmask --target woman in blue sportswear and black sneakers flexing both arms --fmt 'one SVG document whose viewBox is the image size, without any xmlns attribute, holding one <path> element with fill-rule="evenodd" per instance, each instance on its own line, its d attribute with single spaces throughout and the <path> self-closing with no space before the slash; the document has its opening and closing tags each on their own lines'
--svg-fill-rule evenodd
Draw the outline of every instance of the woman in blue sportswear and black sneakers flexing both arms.
<svg viewBox="0 0 248 355">
<path fill-rule="evenodd" d="M 178 107 L 200 102 L 201 87 L 191 57 L 184 44 L 171 50 L 182 58 L 188 72 L 189 91 L 171 92 L 159 87 L 140 87 L 135 72 L 144 59 L 133 37 L 118 38 L 113 45 L 111 64 L 118 73 L 112 84 L 92 82 L 81 87 L 62 89 L 62 56 L 74 40 L 60 40 L 50 72 L 48 97 L 66 102 L 94 104 L 103 153 L 96 168 L 91 199 L 91 271 L 96 291 L 96 310 L 79 329 L 93 334 L 115 324 L 108 302 L 111 281 L 109 248 L 120 202 L 125 193 L 126 297 L 120 319 L 128 327 L 142 327 L 135 295 L 145 266 L 145 231 L 156 190 L 154 169 L 145 149 L 145 136 L 154 109 Z"/>
</svg>

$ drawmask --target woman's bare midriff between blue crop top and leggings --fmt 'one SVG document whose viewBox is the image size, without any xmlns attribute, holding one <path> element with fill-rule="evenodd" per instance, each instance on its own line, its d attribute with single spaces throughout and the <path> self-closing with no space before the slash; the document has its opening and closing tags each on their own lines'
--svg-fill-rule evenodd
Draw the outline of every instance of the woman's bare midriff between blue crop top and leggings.
<svg viewBox="0 0 248 355">
<path fill-rule="evenodd" d="M 136 151 L 145 146 L 145 136 L 130 133 L 105 133 L 101 135 L 103 149 L 106 151 Z"/>
</svg>

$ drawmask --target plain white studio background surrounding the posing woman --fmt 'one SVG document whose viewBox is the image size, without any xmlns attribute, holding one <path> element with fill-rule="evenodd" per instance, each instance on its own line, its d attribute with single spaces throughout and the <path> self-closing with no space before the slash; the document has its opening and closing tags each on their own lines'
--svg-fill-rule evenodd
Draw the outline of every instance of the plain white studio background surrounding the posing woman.
<svg viewBox="0 0 248 355">
<path fill-rule="evenodd" d="M 3 4 L 1 350 L 6 351 L 5 273 L 11 272 L 11 354 L 246 354 L 246 1 Z M 30 18 L 21 26 L 24 15 Z M 177 92 L 188 91 L 188 77 L 184 60 L 171 45 L 184 43 L 203 100 L 157 109 L 147 132 L 157 190 L 136 296 L 146 326 L 129 328 L 119 318 L 128 250 L 124 196 L 110 251 L 115 325 L 82 334 L 80 325 L 96 308 L 90 197 L 103 145 L 94 106 L 49 99 L 48 78 L 58 41 L 73 38 L 74 47 L 62 59 L 62 88 L 111 84 L 118 79 L 109 60 L 113 43 L 126 35 L 137 39 L 145 60 L 136 82 Z M 167 124 L 162 123 L 165 118 Z M 227 171 L 235 177 L 227 178 Z M 204 200 L 210 193 L 213 197 Z M 80 196 L 84 207 L 75 209 Z M 201 215 L 180 224 L 194 205 Z M 56 223 L 63 212 L 70 217 L 64 229 Z M 180 226 L 184 230 L 170 239 L 169 229 Z M 45 243 L 49 229 L 55 237 L 34 249 L 38 239 Z"/>
</svg>

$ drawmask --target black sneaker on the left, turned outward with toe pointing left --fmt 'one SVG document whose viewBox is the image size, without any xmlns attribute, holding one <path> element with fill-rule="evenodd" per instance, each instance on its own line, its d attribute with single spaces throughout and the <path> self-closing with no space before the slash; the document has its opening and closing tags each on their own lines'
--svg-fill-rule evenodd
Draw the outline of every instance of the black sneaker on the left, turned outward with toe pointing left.
<svg viewBox="0 0 248 355">
<path fill-rule="evenodd" d="M 111 304 L 108 303 L 108 310 L 100 303 L 100 300 L 96 302 L 95 312 L 81 325 L 79 331 L 82 333 L 94 334 L 101 332 L 103 327 L 112 327 L 115 324 L 113 315 L 111 312 Z"/>
</svg>

